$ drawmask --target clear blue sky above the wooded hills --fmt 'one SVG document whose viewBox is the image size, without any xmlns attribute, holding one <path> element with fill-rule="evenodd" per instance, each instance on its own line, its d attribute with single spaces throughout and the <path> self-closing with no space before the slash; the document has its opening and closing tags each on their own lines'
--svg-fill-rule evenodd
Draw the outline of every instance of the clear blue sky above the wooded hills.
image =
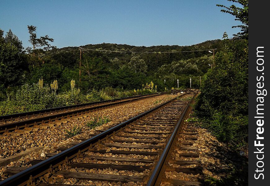
<svg viewBox="0 0 270 186">
<path fill-rule="evenodd" d="M 240 29 L 233 15 L 216 4 L 227 0 L 15 1 L 1 0 L 0 28 L 30 46 L 27 25 L 48 35 L 57 48 L 97 43 L 135 46 L 192 45 L 229 38 Z"/>
</svg>

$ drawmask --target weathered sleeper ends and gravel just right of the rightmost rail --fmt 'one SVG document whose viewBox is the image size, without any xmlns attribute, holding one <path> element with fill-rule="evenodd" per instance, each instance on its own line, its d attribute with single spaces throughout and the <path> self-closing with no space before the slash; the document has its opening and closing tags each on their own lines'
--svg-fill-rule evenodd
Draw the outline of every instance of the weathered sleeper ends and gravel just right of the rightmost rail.
<svg viewBox="0 0 270 186">
<path fill-rule="evenodd" d="M 158 185 L 169 183 L 173 186 L 203 186 L 203 168 L 200 161 L 196 160 L 200 157 L 200 153 L 198 147 L 192 146 L 198 138 L 197 127 L 194 123 L 186 122 L 186 126 L 179 131 L 179 134 L 184 136 L 185 142 L 176 139 L 169 153 L 169 161 L 165 164 L 165 171 L 160 174 Z M 179 150 L 188 153 L 179 153 Z"/>
</svg>

